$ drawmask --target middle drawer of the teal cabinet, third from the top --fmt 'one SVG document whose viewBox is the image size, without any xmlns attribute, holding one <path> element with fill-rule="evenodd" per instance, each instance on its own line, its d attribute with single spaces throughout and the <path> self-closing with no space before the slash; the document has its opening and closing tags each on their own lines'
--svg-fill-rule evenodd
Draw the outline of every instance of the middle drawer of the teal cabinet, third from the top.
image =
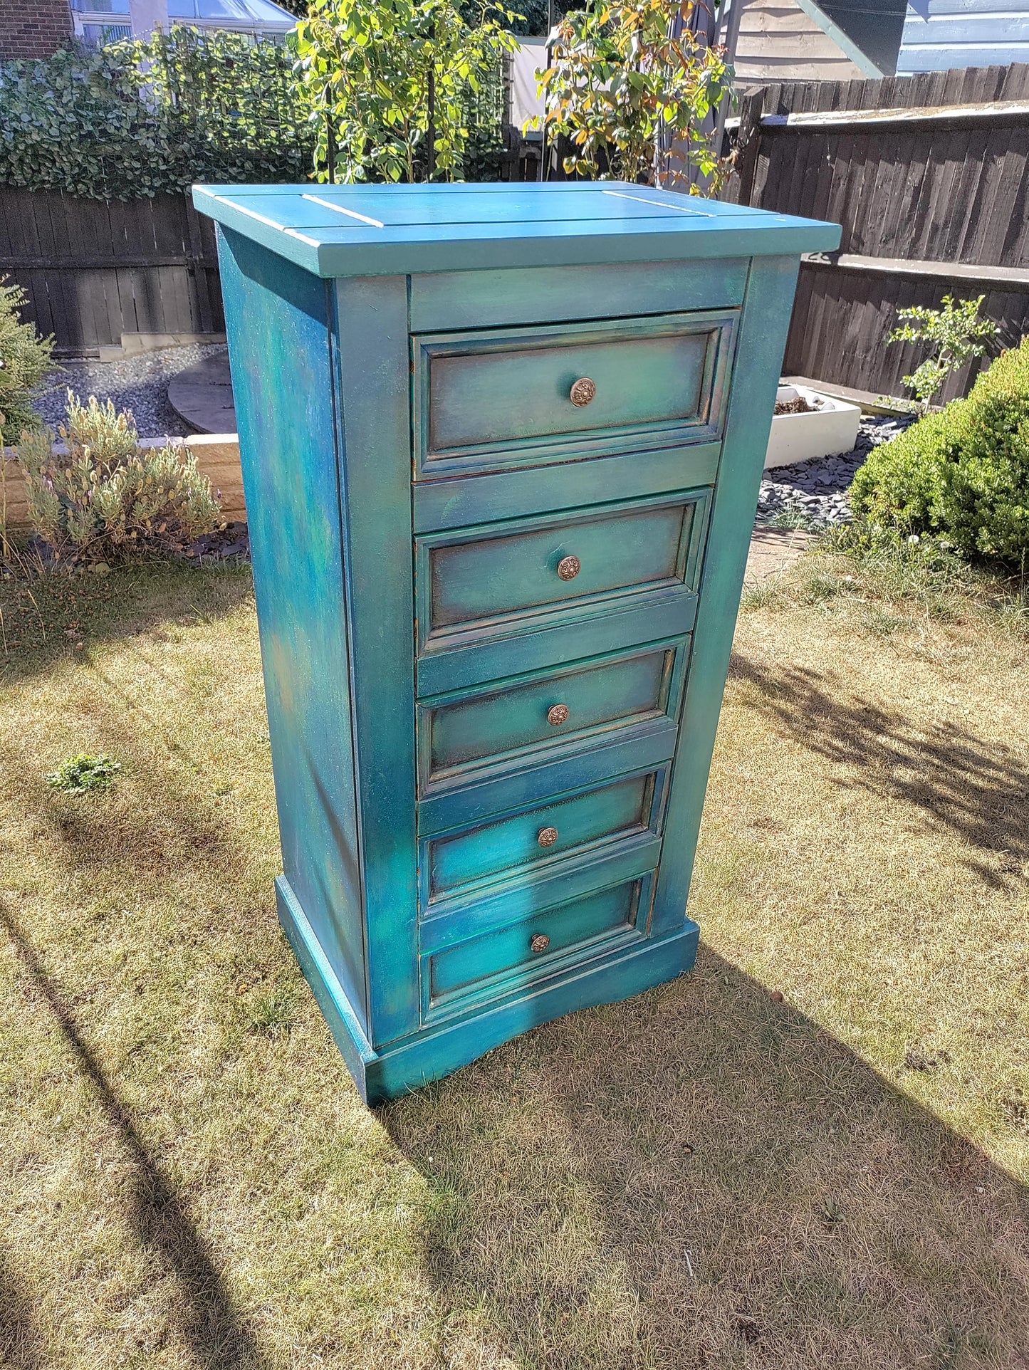
<svg viewBox="0 0 1029 1370">
<path fill-rule="evenodd" d="M 456 700 L 425 701 L 418 708 L 419 788 L 425 793 L 467 784 L 484 770 L 523 769 L 649 719 L 674 719 L 686 653 L 688 638 L 651 644 Z"/>
</svg>

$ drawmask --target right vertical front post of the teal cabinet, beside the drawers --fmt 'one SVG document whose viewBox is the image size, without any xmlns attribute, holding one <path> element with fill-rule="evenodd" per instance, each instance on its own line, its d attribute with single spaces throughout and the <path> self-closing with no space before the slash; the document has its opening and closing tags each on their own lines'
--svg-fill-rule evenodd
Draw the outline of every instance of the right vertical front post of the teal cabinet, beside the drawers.
<svg viewBox="0 0 1029 1370">
<path fill-rule="evenodd" d="M 671 770 L 669 815 L 654 901 L 655 934 L 678 929 L 685 919 L 799 264 L 793 256 L 755 258 L 751 262 L 700 575 L 693 656 Z"/>
</svg>

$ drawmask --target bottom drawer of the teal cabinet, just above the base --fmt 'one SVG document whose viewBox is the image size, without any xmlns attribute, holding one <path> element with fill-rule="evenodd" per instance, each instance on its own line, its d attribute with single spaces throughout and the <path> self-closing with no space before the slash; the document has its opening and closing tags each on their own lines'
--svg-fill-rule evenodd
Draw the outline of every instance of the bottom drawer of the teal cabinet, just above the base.
<svg viewBox="0 0 1029 1370">
<path fill-rule="evenodd" d="M 640 940 L 652 884 L 647 875 L 614 885 L 436 952 L 427 958 L 429 1010 L 512 993 Z"/>
</svg>

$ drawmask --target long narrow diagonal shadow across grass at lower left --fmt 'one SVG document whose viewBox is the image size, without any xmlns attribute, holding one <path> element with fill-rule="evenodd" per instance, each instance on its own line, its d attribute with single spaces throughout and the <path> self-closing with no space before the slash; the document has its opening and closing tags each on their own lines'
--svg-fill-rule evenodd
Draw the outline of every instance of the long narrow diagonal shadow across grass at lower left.
<svg viewBox="0 0 1029 1370">
<path fill-rule="evenodd" d="M 134 1169 L 134 1203 L 130 1214 L 140 1241 L 175 1275 L 182 1292 L 177 1326 L 200 1365 L 260 1370 L 264 1365 L 258 1347 L 233 1308 L 227 1289 L 214 1266 L 204 1238 L 192 1225 L 186 1210 L 160 1166 L 149 1155 L 136 1125 L 111 1088 L 96 1056 L 82 1038 L 64 995 L 52 982 L 18 921 L 0 904 L 0 926 L 7 933 L 23 970 L 67 1041 L 78 1069 L 89 1080 L 107 1118 L 114 1123 Z M 21 1308 L 21 1312 L 19 1312 Z M 23 1300 L 11 1306 L 19 1326 L 30 1326 Z M 3 1328 L 3 1323 L 0 1323 Z M 25 1355 L 32 1344 L 22 1336 Z M 16 1345 L 16 1343 L 15 1343 Z M 15 1362 L 16 1363 L 16 1362 Z M 23 1360 L 32 1366 L 32 1359 Z"/>
</svg>

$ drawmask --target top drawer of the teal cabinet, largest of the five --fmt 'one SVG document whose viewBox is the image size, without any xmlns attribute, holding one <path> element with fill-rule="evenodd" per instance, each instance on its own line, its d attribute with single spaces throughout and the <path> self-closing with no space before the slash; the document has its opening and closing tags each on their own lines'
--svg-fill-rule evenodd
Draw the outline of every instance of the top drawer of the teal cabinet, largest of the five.
<svg viewBox="0 0 1029 1370">
<path fill-rule="evenodd" d="M 718 437 L 736 318 L 415 337 L 415 478 Z"/>
</svg>

